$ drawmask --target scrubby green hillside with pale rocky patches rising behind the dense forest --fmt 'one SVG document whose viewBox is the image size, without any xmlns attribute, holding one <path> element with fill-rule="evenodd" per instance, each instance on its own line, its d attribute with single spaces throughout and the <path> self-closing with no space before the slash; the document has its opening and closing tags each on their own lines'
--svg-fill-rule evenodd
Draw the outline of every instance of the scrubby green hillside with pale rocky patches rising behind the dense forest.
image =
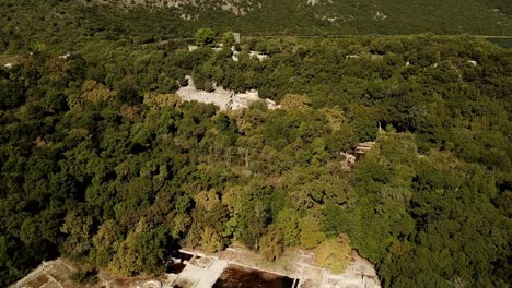
<svg viewBox="0 0 512 288">
<path fill-rule="evenodd" d="M 190 36 L 200 27 L 245 35 L 507 35 L 512 29 L 507 0 L 2 0 L 0 10 L 0 49 L 34 38 Z"/>
</svg>

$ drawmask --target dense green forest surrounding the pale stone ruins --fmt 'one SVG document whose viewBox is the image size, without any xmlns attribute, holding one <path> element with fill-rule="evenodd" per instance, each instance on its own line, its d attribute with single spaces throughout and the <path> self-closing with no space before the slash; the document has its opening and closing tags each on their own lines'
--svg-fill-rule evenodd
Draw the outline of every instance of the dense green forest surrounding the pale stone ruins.
<svg viewBox="0 0 512 288">
<path fill-rule="evenodd" d="M 509 287 L 511 50 L 468 36 L 238 48 L 34 45 L 1 68 L 1 285 L 58 255 L 158 274 L 176 248 L 236 241 L 270 261 L 350 244 L 385 287 Z M 182 103 L 187 74 L 282 109 Z M 365 141 L 347 169 L 340 153 Z"/>
</svg>

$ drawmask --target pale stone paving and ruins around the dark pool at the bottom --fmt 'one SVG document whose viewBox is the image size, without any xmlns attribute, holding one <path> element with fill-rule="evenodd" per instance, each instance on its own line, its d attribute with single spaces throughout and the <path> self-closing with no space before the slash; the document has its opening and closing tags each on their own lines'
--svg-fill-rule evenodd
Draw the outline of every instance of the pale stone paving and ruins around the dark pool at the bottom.
<svg viewBox="0 0 512 288">
<path fill-rule="evenodd" d="M 240 266 L 244 271 L 254 271 L 275 277 L 293 279 L 299 288 L 380 288 L 380 281 L 373 264 L 352 252 L 352 262 L 342 274 L 333 274 L 319 268 L 314 263 L 310 251 L 287 252 L 281 261 L 266 262 L 260 255 L 243 248 L 232 247 L 216 253 L 206 254 L 197 250 L 181 250 L 188 254 L 188 260 L 173 259 L 184 268 L 159 277 L 118 277 L 106 272 L 96 275 L 96 281 L 77 284 L 70 276 L 77 272 L 74 264 L 62 259 L 43 262 L 35 271 L 12 285 L 12 288 L 211 288 L 221 278 L 228 267 Z M 183 266 L 182 266 L 183 267 Z M 223 279 L 228 274 L 223 275 Z M 274 277 L 274 276 L 272 276 Z M 296 285 L 296 286 L 295 286 Z"/>
</svg>

